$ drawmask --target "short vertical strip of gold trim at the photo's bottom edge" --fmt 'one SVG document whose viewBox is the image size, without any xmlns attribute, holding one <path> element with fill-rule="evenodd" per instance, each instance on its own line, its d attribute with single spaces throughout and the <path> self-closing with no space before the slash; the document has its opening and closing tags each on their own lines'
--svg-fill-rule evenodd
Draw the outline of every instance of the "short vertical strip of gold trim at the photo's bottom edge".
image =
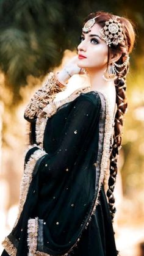
<svg viewBox="0 0 144 256">
<path fill-rule="evenodd" d="M 38 218 L 29 219 L 27 233 L 27 246 L 29 247 L 28 256 L 32 256 L 35 255 L 35 252 L 37 251 Z"/>
</svg>

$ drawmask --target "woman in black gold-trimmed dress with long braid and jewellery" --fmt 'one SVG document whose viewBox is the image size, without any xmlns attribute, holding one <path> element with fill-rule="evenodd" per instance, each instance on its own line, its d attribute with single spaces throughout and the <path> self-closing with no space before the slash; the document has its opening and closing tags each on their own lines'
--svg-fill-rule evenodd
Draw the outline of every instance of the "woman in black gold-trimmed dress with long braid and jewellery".
<svg viewBox="0 0 144 256">
<path fill-rule="evenodd" d="M 91 13 L 78 57 L 50 73 L 30 101 L 24 113 L 31 127 L 20 211 L 2 255 L 118 254 L 113 189 L 134 37 L 126 18 Z M 63 97 L 65 82 L 82 70 L 90 85 Z"/>
</svg>

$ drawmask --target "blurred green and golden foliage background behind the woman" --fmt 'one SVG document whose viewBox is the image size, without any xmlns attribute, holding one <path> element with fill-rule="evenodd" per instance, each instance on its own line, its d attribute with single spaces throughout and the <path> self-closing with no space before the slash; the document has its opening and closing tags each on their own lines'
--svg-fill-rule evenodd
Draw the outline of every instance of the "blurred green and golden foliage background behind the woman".
<svg viewBox="0 0 144 256">
<path fill-rule="evenodd" d="M 0 0 L 0 184 L 4 192 L 0 213 L 4 216 L 7 230 L 11 225 L 7 222 L 7 214 L 10 207 L 18 203 L 23 172 L 24 107 L 35 89 L 40 87 L 46 73 L 59 67 L 65 50 L 76 49 L 85 16 L 97 10 L 126 16 L 135 24 L 136 43 L 130 56 L 131 68 L 127 81 L 128 112 L 125 115 L 119 160 L 122 199 L 117 223 L 121 230 L 123 227 L 128 227 L 128 230 L 132 227 L 133 230 L 134 226 L 134 230 L 142 232 L 139 230 L 144 221 L 142 0 Z M 137 237 L 140 239 L 134 240 L 135 244 L 144 241 L 144 232 L 142 238 L 141 235 Z M 134 243 L 129 244 L 133 246 L 133 252 L 126 252 L 125 249 L 121 255 L 140 255 L 140 252 L 134 252 Z"/>
</svg>

